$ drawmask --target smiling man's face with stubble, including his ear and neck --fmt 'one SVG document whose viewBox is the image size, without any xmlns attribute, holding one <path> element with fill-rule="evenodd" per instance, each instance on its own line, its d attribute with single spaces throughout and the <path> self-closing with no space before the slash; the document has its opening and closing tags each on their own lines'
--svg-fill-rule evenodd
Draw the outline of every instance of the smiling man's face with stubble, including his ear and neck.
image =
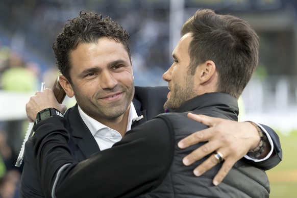
<svg viewBox="0 0 297 198">
<path fill-rule="evenodd" d="M 71 84 L 64 76 L 60 83 L 69 97 L 75 95 L 80 113 L 125 135 L 134 96 L 131 60 L 125 47 L 102 37 L 79 44 L 69 58 Z"/>
</svg>

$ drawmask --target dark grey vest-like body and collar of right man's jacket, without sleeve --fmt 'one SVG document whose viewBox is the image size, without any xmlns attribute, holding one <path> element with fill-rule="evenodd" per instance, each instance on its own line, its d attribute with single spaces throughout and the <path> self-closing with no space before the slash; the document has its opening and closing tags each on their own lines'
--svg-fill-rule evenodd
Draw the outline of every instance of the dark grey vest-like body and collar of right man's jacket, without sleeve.
<svg viewBox="0 0 297 198">
<path fill-rule="evenodd" d="M 189 119 L 187 112 L 237 120 L 238 107 L 236 98 L 228 94 L 207 93 L 187 101 L 175 112 L 177 113 L 162 114 L 160 117 L 166 120 L 167 126 L 174 129 L 175 141 L 178 142 L 197 129 L 206 128 L 205 125 Z M 202 176 L 195 177 L 193 169 L 209 156 L 190 166 L 184 166 L 182 159 L 203 144 L 199 143 L 187 149 L 179 149 L 175 145 L 174 158 L 166 178 L 155 190 L 140 197 L 269 197 L 269 181 L 265 171 L 253 166 L 245 158 L 234 164 L 226 178 L 218 186 L 214 186 L 212 180 L 221 167 L 221 163 Z"/>
</svg>

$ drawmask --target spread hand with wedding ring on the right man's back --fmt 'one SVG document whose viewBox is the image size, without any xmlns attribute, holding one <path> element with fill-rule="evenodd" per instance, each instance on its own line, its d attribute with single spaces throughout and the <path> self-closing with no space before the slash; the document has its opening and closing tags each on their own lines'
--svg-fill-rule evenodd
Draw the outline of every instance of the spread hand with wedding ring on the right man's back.
<svg viewBox="0 0 297 198">
<path fill-rule="evenodd" d="M 188 117 L 209 126 L 209 128 L 197 131 L 182 139 L 178 146 L 184 149 L 199 142 L 208 142 L 187 155 L 183 159 L 183 163 L 190 165 L 215 151 L 219 152 L 225 161 L 222 162 L 222 167 L 213 179 L 214 185 L 218 185 L 226 177 L 235 162 L 249 150 L 254 149 L 260 141 L 259 133 L 249 122 L 237 122 L 192 113 L 188 113 Z M 218 159 L 211 155 L 194 169 L 194 175 L 201 176 L 217 163 Z"/>
</svg>

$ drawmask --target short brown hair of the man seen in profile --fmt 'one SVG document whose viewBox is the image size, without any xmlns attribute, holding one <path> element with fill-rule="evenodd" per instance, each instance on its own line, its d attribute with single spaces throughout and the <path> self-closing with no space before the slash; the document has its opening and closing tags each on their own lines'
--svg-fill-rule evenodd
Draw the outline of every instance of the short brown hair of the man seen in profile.
<svg viewBox="0 0 297 198">
<path fill-rule="evenodd" d="M 232 15 L 197 10 L 183 25 L 181 35 L 192 33 L 189 73 L 212 60 L 219 75 L 217 91 L 238 98 L 258 65 L 259 37 L 248 22 Z"/>
</svg>

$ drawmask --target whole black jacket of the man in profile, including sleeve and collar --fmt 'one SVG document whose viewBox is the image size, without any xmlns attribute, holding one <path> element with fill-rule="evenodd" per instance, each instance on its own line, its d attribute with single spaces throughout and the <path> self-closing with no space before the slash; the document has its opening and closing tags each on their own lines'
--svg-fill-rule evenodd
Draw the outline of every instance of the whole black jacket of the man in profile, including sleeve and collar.
<svg viewBox="0 0 297 198">
<path fill-rule="evenodd" d="M 238 113 L 235 98 L 224 93 L 195 97 L 177 109 L 177 112 L 185 111 L 233 120 Z M 57 170 L 65 164 L 56 185 L 57 197 L 135 197 L 140 194 L 144 197 L 265 197 L 269 193 L 265 172 L 245 159 L 237 162 L 217 187 L 211 181 L 219 165 L 201 177 L 194 177 L 193 167 L 204 159 L 184 166 L 182 157 L 197 145 L 180 150 L 176 141 L 206 126 L 190 120 L 186 113 L 167 113 L 149 120 L 127 132 L 112 149 L 97 152 L 81 163 L 71 156 L 65 123 L 62 117 L 49 118 L 36 126 L 33 137 L 37 170 L 48 197 Z M 277 143 L 276 147 L 280 148 Z M 268 160 L 274 165 L 281 160 L 281 150 L 275 152 Z M 256 194 L 250 192 L 251 188 Z"/>
</svg>

